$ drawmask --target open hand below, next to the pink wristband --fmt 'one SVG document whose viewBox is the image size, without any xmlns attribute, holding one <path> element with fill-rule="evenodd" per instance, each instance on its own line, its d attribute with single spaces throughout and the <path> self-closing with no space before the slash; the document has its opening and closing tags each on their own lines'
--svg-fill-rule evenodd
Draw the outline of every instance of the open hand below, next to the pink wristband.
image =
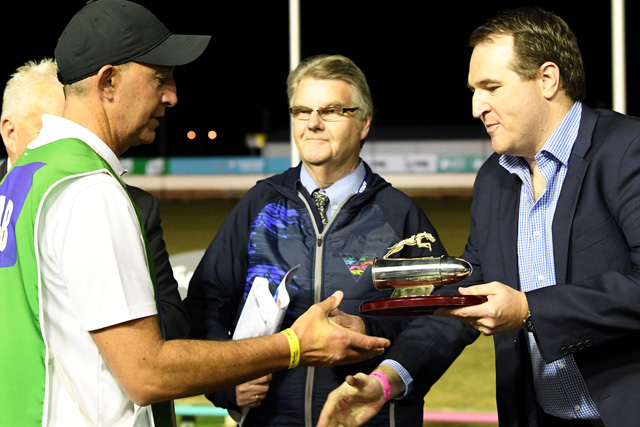
<svg viewBox="0 0 640 427">
<path fill-rule="evenodd" d="M 329 393 L 318 427 L 356 427 L 369 421 L 384 405 L 380 380 L 359 373 Z"/>
</svg>

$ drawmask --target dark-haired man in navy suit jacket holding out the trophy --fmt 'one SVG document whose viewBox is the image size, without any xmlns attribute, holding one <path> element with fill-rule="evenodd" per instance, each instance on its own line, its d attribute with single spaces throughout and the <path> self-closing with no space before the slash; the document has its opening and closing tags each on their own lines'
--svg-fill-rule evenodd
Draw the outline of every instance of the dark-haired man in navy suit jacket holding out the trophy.
<svg viewBox="0 0 640 427">
<path fill-rule="evenodd" d="M 640 121 L 582 103 L 576 38 L 549 12 L 501 13 L 470 45 L 473 115 L 496 153 L 476 178 L 462 255 L 473 274 L 459 291 L 487 301 L 436 312 L 457 325 L 414 321 L 404 331 L 414 344 L 401 337 L 387 357 L 424 392 L 477 337 L 473 327 L 494 335 L 501 426 L 637 425 Z M 402 383 L 387 377 L 399 395 Z M 319 425 L 361 424 L 382 390 L 348 378 Z"/>
</svg>

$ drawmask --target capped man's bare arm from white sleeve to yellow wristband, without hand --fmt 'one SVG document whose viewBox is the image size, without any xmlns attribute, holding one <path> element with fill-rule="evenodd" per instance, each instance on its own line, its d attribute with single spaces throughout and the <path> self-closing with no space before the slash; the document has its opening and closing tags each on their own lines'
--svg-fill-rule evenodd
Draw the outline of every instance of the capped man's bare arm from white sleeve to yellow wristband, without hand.
<svg viewBox="0 0 640 427">
<path fill-rule="evenodd" d="M 155 319 L 144 318 L 91 335 L 120 385 L 141 406 L 230 388 L 289 366 L 289 344 L 282 334 L 164 341 Z"/>
</svg>

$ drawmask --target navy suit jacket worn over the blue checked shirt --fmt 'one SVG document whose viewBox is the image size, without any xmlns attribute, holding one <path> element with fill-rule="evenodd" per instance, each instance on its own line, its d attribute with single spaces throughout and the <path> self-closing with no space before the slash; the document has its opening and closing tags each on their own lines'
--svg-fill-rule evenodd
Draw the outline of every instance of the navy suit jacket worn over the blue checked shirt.
<svg viewBox="0 0 640 427">
<path fill-rule="evenodd" d="M 502 282 L 520 289 L 517 233 L 520 179 L 492 155 L 474 185 L 465 285 Z M 535 338 L 547 362 L 573 354 L 607 426 L 640 420 L 640 121 L 583 106 L 553 220 L 556 286 L 527 293 Z M 428 317 L 396 360 L 426 391 L 478 335 L 461 322 Z M 407 339 L 410 341 L 410 339 Z M 501 426 L 538 426 L 524 330 L 494 337 Z M 407 344 L 409 345 L 409 344 Z M 413 352 L 413 354 L 411 354 Z M 403 354 L 404 353 L 404 354 Z M 416 354 L 422 354 L 416 358 Z M 465 396 L 473 399 L 473 396 Z"/>
</svg>

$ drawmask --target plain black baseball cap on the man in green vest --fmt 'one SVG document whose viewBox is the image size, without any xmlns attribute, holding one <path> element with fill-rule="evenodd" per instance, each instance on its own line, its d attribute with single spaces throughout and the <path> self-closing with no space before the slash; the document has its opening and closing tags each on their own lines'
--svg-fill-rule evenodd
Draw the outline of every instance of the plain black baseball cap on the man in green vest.
<svg viewBox="0 0 640 427">
<path fill-rule="evenodd" d="M 58 79 L 63 84 L 74 83 L 94 75 L 104 65 L 129 61 L 188 64 L 204 52 L 210 39 L 171 34 L 153 13 L 131 1 L 89 1 L 58 39 Z"/>
</svg>

